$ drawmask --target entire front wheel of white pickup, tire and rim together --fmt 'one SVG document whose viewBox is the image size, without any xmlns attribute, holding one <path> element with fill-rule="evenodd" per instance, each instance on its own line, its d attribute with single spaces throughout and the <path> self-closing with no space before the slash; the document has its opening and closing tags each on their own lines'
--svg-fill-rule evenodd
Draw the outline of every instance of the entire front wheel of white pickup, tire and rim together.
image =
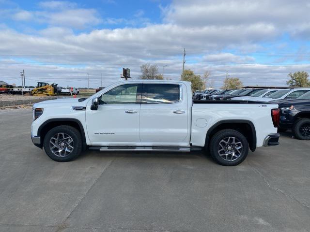
<svg viewBox="0 0 310 232">
<path fill-rule="evenodd" d="M 44 138 L 44 150 L 52 160 L 74 160 L 82 151 L 82 136 L 74 127 L 55 127 L 48 131 Z"/>
</svg>

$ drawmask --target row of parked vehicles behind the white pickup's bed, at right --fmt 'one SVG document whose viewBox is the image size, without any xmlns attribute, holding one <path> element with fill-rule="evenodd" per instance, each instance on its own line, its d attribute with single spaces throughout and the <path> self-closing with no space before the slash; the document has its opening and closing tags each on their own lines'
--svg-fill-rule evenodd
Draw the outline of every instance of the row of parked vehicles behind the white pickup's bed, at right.
<svg viewBox="0 0 310 232">
<path fill-rule="evenodd" d="M 236 100 L 278 104 L 278 130 L 292 130 L 301 140 L 310 140 L 310 88 L 245 88 L 197 91 L 194 100 Z"/>
</svg>

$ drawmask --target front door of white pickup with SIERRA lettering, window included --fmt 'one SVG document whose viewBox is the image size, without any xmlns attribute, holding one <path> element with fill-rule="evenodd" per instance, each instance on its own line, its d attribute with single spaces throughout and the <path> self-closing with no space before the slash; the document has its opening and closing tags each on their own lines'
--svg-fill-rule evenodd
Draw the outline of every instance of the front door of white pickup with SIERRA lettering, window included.
<svg viewBox="0 0 310 232">
<path fill-rule="evenodd" d="M 142 84 L 123 84 L 101 95 L 98 110 L 87 107 L 86 124 L 92 145 L 139 145 Z"/>
</svg>

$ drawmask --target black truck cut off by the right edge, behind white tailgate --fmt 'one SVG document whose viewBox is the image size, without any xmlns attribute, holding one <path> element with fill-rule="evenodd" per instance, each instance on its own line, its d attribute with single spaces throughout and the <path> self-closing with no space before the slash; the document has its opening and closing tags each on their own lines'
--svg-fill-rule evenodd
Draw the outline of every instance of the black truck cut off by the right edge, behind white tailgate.
<svg viewBox="0 0 310 232">
<path fill-rule="evenodd" d="M 292 129 L 295 138 L 310 140 L 310 91 L 296 99 L 283 99 L 270 103 L 279 104 L 279 131 Z"/>
</svg>

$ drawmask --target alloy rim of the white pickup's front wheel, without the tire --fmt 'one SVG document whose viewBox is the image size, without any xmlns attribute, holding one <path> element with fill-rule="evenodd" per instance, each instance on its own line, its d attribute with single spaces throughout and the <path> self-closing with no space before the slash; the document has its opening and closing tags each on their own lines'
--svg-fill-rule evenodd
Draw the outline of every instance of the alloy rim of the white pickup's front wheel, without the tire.
<svg viewBox="0 0 310 232">
<path fill-rule="evenodd" d="M 66 157 L 74 147 L 73 139 L 66 133 L 57 133 L 49 140 L 50 151 L 58 157 Z"/>
</svg>

